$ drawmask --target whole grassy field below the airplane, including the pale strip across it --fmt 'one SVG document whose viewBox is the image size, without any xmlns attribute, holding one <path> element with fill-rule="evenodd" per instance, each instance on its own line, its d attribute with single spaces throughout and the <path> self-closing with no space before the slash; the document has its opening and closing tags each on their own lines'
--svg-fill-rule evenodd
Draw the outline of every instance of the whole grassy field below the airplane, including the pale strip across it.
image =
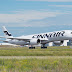
<svg viewBox="0 0 72 72">
<path fill-rule="evenodd" d="M 72 47 L 0 46 L 0 72 L 72 72 Z"/>
</svg>

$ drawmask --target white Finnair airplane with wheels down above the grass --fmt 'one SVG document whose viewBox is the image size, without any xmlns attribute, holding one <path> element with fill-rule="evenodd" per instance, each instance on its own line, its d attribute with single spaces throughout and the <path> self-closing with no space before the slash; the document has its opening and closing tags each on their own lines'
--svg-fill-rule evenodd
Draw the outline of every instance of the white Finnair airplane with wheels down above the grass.
<svg viewBox="0 0 72 72">
<path fill-rule="evenodd" d="M 56 45 L 63 44 L 64 40 L 72 40 L 72 30 L 62 30 L 62 31 L 54 31 L 33 35 L 26 35 L 20 37 L 13 37 L 11 33 L 8 32 L 5 26 L 2 27 L 4 36 L 0 38 L 6 38 L 3 42 L 16 44 L 16 45 L 31 45 L 29 49 L 35 49 L 33 45 L 41 44 L 41 48 L 47 48 L 46 44 L 49 42 L 53 42 Z"/>
</svg>

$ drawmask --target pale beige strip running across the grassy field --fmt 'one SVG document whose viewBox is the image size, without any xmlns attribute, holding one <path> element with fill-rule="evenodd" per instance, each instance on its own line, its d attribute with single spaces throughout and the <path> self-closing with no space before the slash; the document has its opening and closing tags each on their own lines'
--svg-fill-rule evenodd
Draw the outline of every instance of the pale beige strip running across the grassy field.
<svg viewBox="0 0 72 72">
<path fill-rule="evenodd" d="M 72 56 L 0 56 L 0 59 L 61 59 L 61 58 L 71 58 Z"/>
</svg>

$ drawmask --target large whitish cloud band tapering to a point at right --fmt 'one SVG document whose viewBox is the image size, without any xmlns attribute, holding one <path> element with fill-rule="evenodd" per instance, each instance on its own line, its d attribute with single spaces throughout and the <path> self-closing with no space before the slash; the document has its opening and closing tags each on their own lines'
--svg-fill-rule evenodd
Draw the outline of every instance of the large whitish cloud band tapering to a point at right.
<svg viewBox="0 0 72 72">
<path fill-rule="evenodd" d="M 15 14 L 0 14 L 0 23 L 22 23 L 29 20 L 40 20 L 46 17 L 56 17 L 61 12 L 49 11 L 17 11 Z"/>
</svg>

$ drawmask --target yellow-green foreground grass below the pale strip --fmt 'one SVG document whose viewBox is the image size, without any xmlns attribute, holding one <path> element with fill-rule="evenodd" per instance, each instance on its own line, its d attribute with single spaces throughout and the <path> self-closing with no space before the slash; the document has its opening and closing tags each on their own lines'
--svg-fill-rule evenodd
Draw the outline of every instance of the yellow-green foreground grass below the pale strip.
<svg viewBox="0 0 72 72">
<path fill-rule="evenodd" d="M 0 72 L 72 72 L 72 58 L 0 59 Z"/>
</svg>

